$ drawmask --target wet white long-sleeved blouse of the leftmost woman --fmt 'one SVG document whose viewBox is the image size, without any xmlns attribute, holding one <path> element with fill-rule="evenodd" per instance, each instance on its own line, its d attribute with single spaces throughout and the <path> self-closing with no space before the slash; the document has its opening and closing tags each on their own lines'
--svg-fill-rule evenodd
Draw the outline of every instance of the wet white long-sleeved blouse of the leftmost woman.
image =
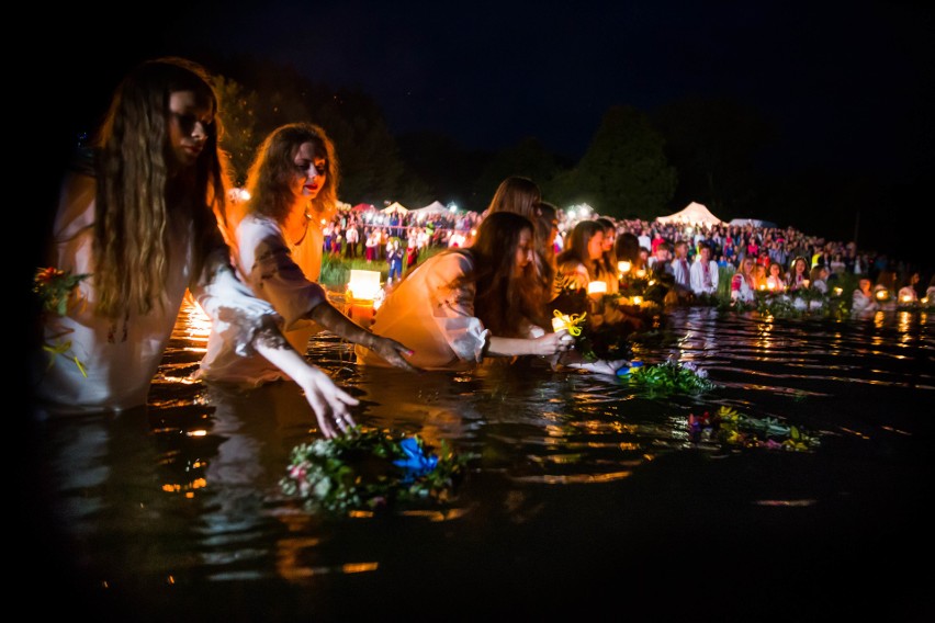
<svg viewBox="0 0 935 623">
<path fill-rule="evenodd" d="M 157 307 L 145 316 L 131 312 L 117 321 L 98 316 L 91 250 L 95 192 L 93 178 L 72 174 L 64 181 L 48 260 L 59 270 L 92 276 L 79 284 L 66 316 L 49 315 L 45 319 L 45 343 L 64 347 L 70 342 L 70 349 L 64 353 L 67 356 L 52 356 L 46 351 L 36 356 L 34 390 L 40 416 L 145 405 L 187 290 L 237 356 L 254 353 L 250 344 L 256 332 L 271 321 L 279 322 L 273 308 L 252 296 L 229 268 L 194 274 L 194 233 L 191 220 L 185 218 L 168 224 L 171 248 L 166 308 Z M 214 253 L 209 265 L 227 262 L 226 246 L 219 246 Z M 70 356 L 81 362 L 87 377 Z"/>
</svg>

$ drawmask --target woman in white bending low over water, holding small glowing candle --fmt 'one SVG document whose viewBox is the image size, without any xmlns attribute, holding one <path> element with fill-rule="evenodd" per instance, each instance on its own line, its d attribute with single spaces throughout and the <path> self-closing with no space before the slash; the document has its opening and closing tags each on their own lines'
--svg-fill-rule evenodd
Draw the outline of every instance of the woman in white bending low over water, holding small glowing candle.
<svg viewBox="0 0 935 623">
<path fill-rule="evenodd" d="M 567 352 L 574 340 L 566 330 L 547 332 L 533 322 L 542 310 L 529 295 L 532 230 L 519 214 L 488 214 L 471 247 L 442 251 L 405 275 L 376 312 L 373 331 L 406 340 L 415 351 L 409 362 L 425 370 Z M 360 363 L 387 365 L 369 349 L 356 350 Z"/>
</svg>

